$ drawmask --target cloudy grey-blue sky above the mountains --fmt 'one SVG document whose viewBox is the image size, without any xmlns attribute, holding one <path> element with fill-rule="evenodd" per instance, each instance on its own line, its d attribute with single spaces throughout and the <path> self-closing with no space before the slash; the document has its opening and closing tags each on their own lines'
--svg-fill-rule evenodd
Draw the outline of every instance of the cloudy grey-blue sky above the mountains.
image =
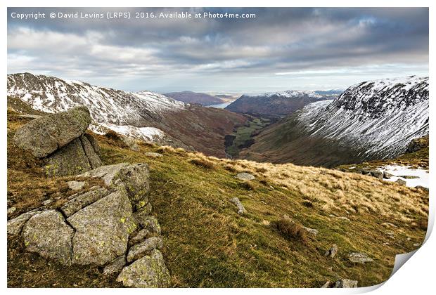
<svg viewBox="0 0 436 295">
<path fill-rule="evenodd" d="M 38 12 L 45 18 L 17 18 Z M 130 19 L 107 18 L 118 12 Z M 174 12 L 192 18 L 166 17 Z M 226 12 L 255 18 L 194 17 Z M 160 93 L 346 89 L 428 76 L 428 16 L 428 8 L 8 8 L 8 74 Z"/>
</svg>

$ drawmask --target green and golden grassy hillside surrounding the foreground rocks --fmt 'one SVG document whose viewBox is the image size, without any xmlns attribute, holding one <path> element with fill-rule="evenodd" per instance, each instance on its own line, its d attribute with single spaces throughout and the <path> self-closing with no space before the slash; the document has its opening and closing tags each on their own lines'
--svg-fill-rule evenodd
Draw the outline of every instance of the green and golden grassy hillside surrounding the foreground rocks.
<svg viewBox="0 0 436 295">
<path fill-rule="evenodd" d="M 8 112 L 8 200 L 13 216 L 40 206 L 48 197 L 72 192 L 70 178 L 44 177 L 35 159 L 11 144 L 30 118 Z M 120 140 L 96 136 L 104 164 L 146 162 L 150 202 L 162 225 L 162 253 L 174 287 L 321 287 L 349 278 L 359 287 L 386 280 L 395 254 L 416 249 L 425 237 L 428 194 L 357 173 L 293 164 L 262 164 L 205 157 L 200 153 L 139 143 L 129 150 Z M 159 152 L 163 157 L 146 157 Z M 254 181 L 234 176 L 247 171 Z M 238 197 L 248 211 L 239 216 L 229 202 Z M 287 214 L 318 235 L 286 232 L 277 226 Z M 324 252 L 339 247 L 335 258 Z M 372 263 L 354 264 L 361 251 Z M 23 250 L 8 239 L 9 287 L 120 287 L 101 268 L 73 265 Z"/>
</svg>

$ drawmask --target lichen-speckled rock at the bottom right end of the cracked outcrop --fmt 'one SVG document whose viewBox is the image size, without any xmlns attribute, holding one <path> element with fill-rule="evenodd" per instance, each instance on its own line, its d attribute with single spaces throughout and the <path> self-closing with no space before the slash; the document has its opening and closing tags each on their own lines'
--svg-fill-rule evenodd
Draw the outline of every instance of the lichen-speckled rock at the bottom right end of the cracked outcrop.
<svg viewBox="0 0 436 295">
<path fill-rule="evenodd" d="M 153 250 L 150 256 L 143 256 L 124 267 L 117 277 L 126 287 L 165 288 L 171 284 L 171 277 L 162 253 Z"/>
</svg>

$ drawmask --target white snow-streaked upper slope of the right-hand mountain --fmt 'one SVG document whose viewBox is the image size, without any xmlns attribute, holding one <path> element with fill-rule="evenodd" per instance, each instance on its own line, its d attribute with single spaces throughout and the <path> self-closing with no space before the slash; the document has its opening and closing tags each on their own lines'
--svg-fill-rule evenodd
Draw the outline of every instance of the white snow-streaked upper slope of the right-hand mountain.
<svg viewBox="0 0 436 295">
<path fill-rule="evenodd" d="M 307 105 L 298 116 L 311 135 L 335 138 L 365 155 L 395 157 L 428 134 L 428 77 L 366 81 L 332 103 Z"/>
</svg>

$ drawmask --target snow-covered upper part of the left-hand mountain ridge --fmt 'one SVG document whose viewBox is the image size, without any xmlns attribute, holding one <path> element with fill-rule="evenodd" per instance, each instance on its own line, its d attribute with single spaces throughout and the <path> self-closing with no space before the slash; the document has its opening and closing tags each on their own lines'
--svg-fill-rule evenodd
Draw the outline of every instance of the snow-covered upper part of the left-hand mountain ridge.
<svg viewBox="0 0 436 295">
<path fill-rule="evenodd" d="M 35 110 L 54 113 L 85 105 L 93 120 L 90 129 L 111 129 L 148 141 L 165 136 L 160 129 L 151 127 L 165 113 L 186 107 L 151 91 L 133 93 L 44 75 L 8 74 L 7 81 L 7 95 L 23 100 Z"/>
</svg>

